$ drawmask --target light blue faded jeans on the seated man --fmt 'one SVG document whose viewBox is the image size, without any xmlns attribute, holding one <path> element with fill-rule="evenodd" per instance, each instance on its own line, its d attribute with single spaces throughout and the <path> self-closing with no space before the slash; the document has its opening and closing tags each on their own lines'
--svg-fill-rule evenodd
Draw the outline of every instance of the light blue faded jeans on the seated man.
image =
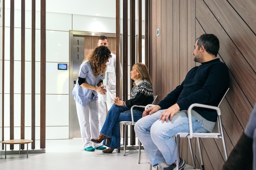
<svg viewBox="0 0 256 170">
<path fill-rule="evenodd" d="M 177 146 L 173 136 L 178 132 L 189 132 L 186 110 L 176 113 L 172 121 L 162 123 L 159 117 L 163 112 L 164 110 L 158 110 L 152 115 L 142 117 L 134 127 L 153 166 L 164 161 L 168 165 L 173 164 L 177 157 Z M 202 128 L 202 121 L 197 121 L 193 116 L 192 124 L 194 132 L 208 132 Z"/>
</svg>

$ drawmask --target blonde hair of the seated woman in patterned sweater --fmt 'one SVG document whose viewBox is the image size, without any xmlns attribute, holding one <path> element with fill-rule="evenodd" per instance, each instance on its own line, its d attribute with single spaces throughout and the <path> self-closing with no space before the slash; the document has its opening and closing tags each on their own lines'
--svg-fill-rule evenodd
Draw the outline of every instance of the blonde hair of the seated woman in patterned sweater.
<svg viewBox="0 0 256 170">
<path fill-rule="evenodd" d="M 132 67 L 134 67 L 139 72 L 138 79 L 141 79 L 141 80 L 147 79 L 152 85 L 152 79 L 149 75 L 148 67 L 145 64 L 139 62 L 139 63 L 133 64 Z M 135 83 L 133 83 L 133 85 L 135 86 Z"/>
</svg>

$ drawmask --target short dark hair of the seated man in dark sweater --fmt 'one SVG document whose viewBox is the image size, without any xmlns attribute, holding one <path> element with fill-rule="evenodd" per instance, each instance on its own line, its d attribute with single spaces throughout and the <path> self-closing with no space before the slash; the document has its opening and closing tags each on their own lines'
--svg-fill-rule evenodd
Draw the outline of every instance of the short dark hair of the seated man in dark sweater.
<svg viewBox="0 0 256 170">
<path fill-rule="evenodd" d="M 217 56 L 220 49 L 220 42 L 216 35 L 213 34 L 203 34 L 198 39 L 198 49 L 204 46 L 207 53 Z"/>
</svg>

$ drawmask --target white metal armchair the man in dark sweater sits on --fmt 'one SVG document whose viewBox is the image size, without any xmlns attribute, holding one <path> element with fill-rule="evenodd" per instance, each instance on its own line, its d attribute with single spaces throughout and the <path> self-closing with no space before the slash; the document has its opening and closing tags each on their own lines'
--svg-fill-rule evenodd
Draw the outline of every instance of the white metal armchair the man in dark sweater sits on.
<svg viewBox="0 0 256 170">
<path fill-rule="evenodd" d="M 226 149 L 226 144 L 225 144 L 225 137 L 224 137 L 224 134 L 223 134 L 222 121 L 221 121 L 221 113 L 220 113 L 219 106 L 220 106 L 222 100 L 225 98 L 225 95 L 227 94 L 228 91 L 229 91 L 229 88 L 227 89 L 226 93 L 222 97 L 220 103 L 218 104 L 218 107 L 216 107 L 216 106 L 209 106 L 209 105 L 205 105 L 205 104 L 197 104 L 197 103 L 191 104 L 191 106 L 189 106 L 189 109 L 188 109 L 189 132 L 179 132 L 179 133 L 177 133 L 175 135 L 175 137 L 177 137 L 177 141 L 176 141 L 176 143 L 177 143 L 177 161 L 176 161 L 177 167 L 176 167 L 176 169 L 177 170 L 179 169 L 178 166 L 180 164 L 179 163 L 179 160 L 180 160 L 179 158 L 180 158 L 180 138 L 181 137 L 188 138 L 190 152 L 191 152 L 191 158 L 192 158 L 192 161 L 193 161 L 194 168 L 195 168 L 195 160 L 194 160 L 194 157 L 193 157 L 193 150 L 192 150 L 192 146 L 191 146 L 191 138 L 193 138 L 193 137 L 197 138 L 202 170 L 204 170 L 204 163 L 203 163 L 203 159 L 202 159 L 202 152 L 201 152 L 199 138 L 217 138 L 217 139 L 222 139 L 222 145 L 223 145 L 223 149 L 224 149 L 224 152 L 225 152 L 225 159 L 227 160 L 227 149 Z M 148 107 L 152 107 L 152 106 L 155 106 L 155 105 L 148 104 L 145 107 L 145 110 Z M 210 109 L 213 109 L 213 110 L 217 111 L 217 114 L 218 114 L 217 118 L 218 119 L 216 121 L 216 124 L 215 124 L 212 132 L 208 132 L 208 133 L 193 133 L 192 120 L 191 120 L 191 110 L 192 110 L 193 107 L 210 108 Z M 139 149 L 139 152 L 140 152 L 140 149 Z M 140 153 L 139 153 L 139 163 L 140 163 Z M 150 170 L 151 170 L 151 166 L 150 166 Z"/>
</svg>

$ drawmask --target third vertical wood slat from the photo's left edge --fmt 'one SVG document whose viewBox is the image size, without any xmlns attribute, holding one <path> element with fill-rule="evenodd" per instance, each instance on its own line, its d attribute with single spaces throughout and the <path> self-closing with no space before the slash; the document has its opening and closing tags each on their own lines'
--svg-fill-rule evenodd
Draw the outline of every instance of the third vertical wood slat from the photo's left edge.
<svg viewBox="0 0 256 170">
<path fill-rule="evenodd" d="M 21 1 L 20 139 L 25 139 L 25 0 Z M 24 144 L 20 146 L 24 149 Z"/>
</svg>

